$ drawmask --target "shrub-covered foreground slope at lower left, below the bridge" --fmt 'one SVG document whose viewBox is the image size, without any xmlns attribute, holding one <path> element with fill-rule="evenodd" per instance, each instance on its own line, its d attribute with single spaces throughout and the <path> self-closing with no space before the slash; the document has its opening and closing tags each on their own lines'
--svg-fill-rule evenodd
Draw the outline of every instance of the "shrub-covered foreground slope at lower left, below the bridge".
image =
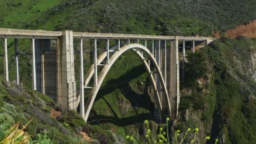
<svg viewBox="0 0 256 144">
<path fill-rule="evenodd" d="M 82 131 L 101 144 L 115 141 L 112 133 L 96 125 L 85 124 L 75 111 L 56 106 L 48 96 L 36 91 L 27 91 L 13 83 L 7 84 L 2 77 L 0 112 L 0 126 L 3 131 L 18 122 L 21 128 L 31 120 L 25 131 L 34 141 L 40 140 L 42 136 L 38 136 L 38 133 L 44 135 L 44 131 L 47 131 L 47 136 L 53 143 L 76 144 L 83 139 L 78 136 Z"/>
</svg>

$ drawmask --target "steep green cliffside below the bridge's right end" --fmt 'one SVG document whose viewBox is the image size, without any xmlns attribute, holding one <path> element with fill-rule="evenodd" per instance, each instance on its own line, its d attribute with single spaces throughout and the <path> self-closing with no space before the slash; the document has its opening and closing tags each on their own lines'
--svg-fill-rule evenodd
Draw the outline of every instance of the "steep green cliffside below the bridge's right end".
<svg viewBox="0 0 256 144">
<path fill-rule="evenodd" d="M 196 77 L 183 83 L 181 116 L 185 116 L 186 110 L 195 116 L 189 120 L 179 119 L 177 128 L 183 129 L 181 123 L 199 126 L 205 135 L 219 138 L 226 144 L 256 142 L 256 87 L 252 79 L 255 45 L 255 39 L 222 38 L 214 41 L 211 47 L 197 51 L 196 56 L 188 56 L 190 63 L 199 64 L 199 67 Z M 205 57 L 206 63 L 195 60 L 198 56 Z M 192 65 L 188 64 L 187 70 L 191 70 Z M 203 72 L 205 68 L 208 71 Z M 196 81 L 201 77 L 208 81 L 203 88 Z M 188 90 L 195 93 L 186 93 Z M 198 97 L 200 99 L 196 99 Z M 203 126 L 198 121 L 202 121 Z"/>
</svg>

